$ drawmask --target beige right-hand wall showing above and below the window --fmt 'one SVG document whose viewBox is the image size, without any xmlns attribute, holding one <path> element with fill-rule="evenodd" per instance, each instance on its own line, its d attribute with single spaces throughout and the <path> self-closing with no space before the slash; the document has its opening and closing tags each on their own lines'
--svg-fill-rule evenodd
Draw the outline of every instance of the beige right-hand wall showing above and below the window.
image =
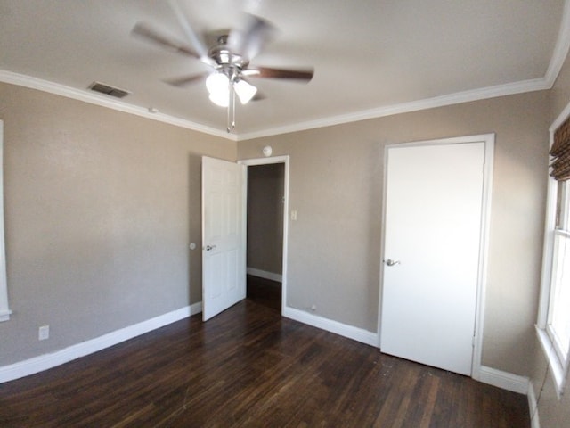
<svg viewBox="0 0 570 428">
<path fill-rule="evenodd" d="M 568 103 L 570 103 L 570 57 L 566 58 L 566 63 L 550 93 L 549 126 L 558 118 Z M 547 372 L 544 352 L 536 337 L 533 339 L 537 344 L 531 381 L 536 397 L 540 397 L 538 415 L 541 428 L 568 428 L 570 427 L 570 393 L 567 391 L 570 385 L 570 374 L 566 377 L 566 394 L 558 400 L 551 373 Z M 542 385 L 544 388 L 541 392 Z"/>
</svg>

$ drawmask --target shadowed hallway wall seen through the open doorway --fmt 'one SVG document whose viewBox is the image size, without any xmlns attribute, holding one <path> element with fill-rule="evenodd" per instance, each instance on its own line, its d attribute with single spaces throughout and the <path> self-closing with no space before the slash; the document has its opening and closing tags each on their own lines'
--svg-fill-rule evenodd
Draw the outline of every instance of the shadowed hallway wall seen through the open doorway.
<svg viewBox="0 0 570 428">
<path fill-rule="evenodd" d="M 285 165 L 248 167 L 248 268 L 281 275 Z"/>
</svg>

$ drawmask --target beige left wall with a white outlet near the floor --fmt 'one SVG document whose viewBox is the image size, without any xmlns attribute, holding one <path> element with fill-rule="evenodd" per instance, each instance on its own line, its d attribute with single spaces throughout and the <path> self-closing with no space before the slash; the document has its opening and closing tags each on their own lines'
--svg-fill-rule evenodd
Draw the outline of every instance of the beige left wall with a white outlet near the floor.
<svg viewBox="0 0 570 428">
<path fill-rule="evenodd" d="M 5 84 L 0 119 L 0 366 L 201 300 L 200 156 L 235 160 L 234 142 Z"/>
</svg>

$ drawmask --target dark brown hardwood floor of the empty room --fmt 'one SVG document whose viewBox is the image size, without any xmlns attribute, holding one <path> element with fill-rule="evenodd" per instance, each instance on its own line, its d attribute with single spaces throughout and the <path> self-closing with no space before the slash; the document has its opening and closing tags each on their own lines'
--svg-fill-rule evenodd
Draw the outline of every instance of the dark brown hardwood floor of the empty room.
<svg viewBox="0 0 570 428">
<path fill-rule="evenodd" d="M 244 300 L 0 384 L 1 427 L 528 427 L 523 395 Z"/>
</svg>

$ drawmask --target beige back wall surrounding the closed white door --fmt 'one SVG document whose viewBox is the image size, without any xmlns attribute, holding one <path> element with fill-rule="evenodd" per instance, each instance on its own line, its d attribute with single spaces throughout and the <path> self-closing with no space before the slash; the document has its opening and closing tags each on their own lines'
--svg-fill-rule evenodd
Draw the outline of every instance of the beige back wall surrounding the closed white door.
<svg viewBox="0 0 570 428">
<path fill-rule="evenodd" d="M 548 92 L 400 114 L 238 144 L 289 154 L 287 304 L 376 332 L 384 147 L 496 133 L 483 364 L 529 374 L 542 259 Z"/>
</svg>

